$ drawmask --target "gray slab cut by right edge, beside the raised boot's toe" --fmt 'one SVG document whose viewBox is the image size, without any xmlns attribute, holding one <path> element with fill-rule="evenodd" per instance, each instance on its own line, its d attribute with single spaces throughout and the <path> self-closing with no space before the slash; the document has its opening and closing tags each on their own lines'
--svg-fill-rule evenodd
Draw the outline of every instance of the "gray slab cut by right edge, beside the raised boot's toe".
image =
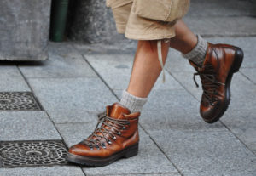
<svg viewBox="0 0 256 176">
<path fill-rule="evenodd" d="M 256 154 L 256 110 L 229 109 L 221 121 Z"/>
</svg>

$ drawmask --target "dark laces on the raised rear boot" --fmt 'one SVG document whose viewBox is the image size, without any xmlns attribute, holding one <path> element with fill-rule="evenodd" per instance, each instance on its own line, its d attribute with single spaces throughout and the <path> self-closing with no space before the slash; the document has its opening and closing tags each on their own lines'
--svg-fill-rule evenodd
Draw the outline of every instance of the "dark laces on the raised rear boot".
<svg viewBox="0 0 256 176">
<path fill-rule="evenodd" d="M 207 102 L 210 103 L 210 105 L 213 105 L 215 101 L 217 101 L 217 98 L 213 98 L 212 94 L 217 95 L 217 88 L 219 88 L 220 85 L 225 85 L 222 82 L 217 82 L 216 81 L 216 72 L 214 71 L 212 65 L 204 65 L 204 72 L 195 72 L 194 73 L 194 82 L 196 87 L 198 88 L 199 85 L 195 80 L 195 76 L 200 76 L 201 77 L 201 85 L 203 89 L 203 94 L 207 98 Z"/>
</svg>

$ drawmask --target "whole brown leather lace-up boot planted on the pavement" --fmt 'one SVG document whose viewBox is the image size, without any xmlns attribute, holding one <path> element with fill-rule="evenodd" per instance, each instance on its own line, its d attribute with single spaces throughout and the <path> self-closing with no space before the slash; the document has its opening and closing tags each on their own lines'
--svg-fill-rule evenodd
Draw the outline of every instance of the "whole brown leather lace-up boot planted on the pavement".
<svg viewBox="0 0 256 176">
<path fill-rule="evenodd" d="M 131 114 L 118 103 L 107 106 L 106 109 L 106 113 L 99 116 L 95 131 L 68 150 L 68 162 L 102 167 L 119 158 L 137 155 L 140 113 Z"/>
</svg>

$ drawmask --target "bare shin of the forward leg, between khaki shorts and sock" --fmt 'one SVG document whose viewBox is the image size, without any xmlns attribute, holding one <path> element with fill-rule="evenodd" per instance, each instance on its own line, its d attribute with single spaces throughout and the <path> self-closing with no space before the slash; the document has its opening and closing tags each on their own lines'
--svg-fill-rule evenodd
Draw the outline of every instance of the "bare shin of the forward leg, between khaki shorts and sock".
<svg viewBox="0 0 256 176">
<path fill-rule="evenodd" d="M 162 42 L 163 62 L 166 62 L 170 43 Z M 139 41 L 127 92 L 147 98 L 161 72 L 157 41 Z"/>
</svg>

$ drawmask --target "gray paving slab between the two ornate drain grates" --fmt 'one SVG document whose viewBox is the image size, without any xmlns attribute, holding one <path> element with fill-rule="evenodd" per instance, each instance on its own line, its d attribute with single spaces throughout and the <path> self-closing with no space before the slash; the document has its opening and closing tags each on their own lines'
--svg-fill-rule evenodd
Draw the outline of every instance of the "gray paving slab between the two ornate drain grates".
<svg viewBox="0 0 256 176">
<path fill-rule="evenodd" d="M 44 111 L 0 112 L 0 140 L 61 139 Z"/>
</svg>

